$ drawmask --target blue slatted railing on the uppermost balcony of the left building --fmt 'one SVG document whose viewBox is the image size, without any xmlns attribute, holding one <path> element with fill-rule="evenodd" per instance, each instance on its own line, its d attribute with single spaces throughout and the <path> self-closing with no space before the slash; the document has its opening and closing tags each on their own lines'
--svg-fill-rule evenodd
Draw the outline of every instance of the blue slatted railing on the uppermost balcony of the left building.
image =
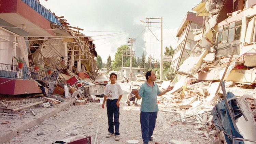
<svg viewBox="0 0 256 144">
<path fill-rule="evenodd" d="M 49 21 L 52 21 L 53 23 L 61 26 L 59 20 L 49 10 L 44 8 L 44 6 L 41 5 L 40 3 L 38 3 L 36 0 L 22 0 L 22 1 L 25 2 L 32 9 L 37 11 L 44 18 L 46 18 Z"/>
</svg>

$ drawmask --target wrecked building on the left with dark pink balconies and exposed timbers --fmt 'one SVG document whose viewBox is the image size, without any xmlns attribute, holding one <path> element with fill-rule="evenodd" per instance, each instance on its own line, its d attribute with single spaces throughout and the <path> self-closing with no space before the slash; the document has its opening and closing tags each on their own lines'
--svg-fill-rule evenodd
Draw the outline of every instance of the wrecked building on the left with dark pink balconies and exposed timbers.
<svg viewBox="0 0 256 144">
<path fill-rule="evenodd" d="M 83 29 L 37 0 L 1 0 L 0 6 L 1 94 L 51 93 L 61 80 L 96 76 L 94 40 Z"/>
</svg>

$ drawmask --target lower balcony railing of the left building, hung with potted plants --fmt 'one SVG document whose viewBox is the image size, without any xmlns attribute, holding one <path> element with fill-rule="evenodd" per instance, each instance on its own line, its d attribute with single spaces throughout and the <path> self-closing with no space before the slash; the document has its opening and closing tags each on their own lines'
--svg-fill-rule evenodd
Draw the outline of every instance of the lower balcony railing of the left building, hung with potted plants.
<svg viewBox="0 0 256 144">
<path fill-rule="evenodd" d="M 16 65 L 0 63 L 0 77 L 19 78 L 25 80 L 57 81 L 58 72 L 48 74 L 48 71 L 34 70 L 34 68 L 18 68 Z"/>
</svg>

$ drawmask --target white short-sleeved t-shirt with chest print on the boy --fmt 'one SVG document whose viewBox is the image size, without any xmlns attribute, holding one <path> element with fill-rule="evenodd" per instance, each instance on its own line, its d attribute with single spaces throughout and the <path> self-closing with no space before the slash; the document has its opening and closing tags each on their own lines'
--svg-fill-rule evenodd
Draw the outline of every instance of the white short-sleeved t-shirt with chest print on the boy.
<svg viewBox="0 0 256 144">
<path fill-rule="evenodd" d="M 114 100 L 118 99 L 120 95 L 123 95 L 123 90 L 118 83 L 115 84 L 107 84 L 105 90 L 103 92 L 107 99 Z"/>
</svg>

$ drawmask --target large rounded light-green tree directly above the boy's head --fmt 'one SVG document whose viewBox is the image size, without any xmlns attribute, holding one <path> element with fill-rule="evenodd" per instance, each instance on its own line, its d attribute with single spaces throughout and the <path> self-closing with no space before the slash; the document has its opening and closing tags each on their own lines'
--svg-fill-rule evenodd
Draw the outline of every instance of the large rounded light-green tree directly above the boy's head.
<svg viewBox="0 0 256 144">
<path fill-rule="evenodd" d="M 122 67 L 122 55 L 125 54 L 125 51 L 129 50 L 128 45 L 121 45 L 117 48 L 117 52 L 115 53 L 115 58 L 112 63 L 113 70 L 119 70 Z M 128 56 L 123 56 L 123 62 L 125 63 L 128 60 Z"/>
</svg>

